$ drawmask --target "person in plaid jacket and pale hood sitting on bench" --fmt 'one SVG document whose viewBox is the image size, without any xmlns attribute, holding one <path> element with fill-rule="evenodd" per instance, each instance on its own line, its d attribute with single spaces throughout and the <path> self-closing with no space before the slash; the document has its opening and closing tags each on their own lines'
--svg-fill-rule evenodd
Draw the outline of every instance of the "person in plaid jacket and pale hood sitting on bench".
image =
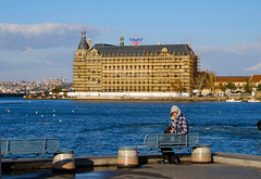
<svg viewBox="0 0 261 179">
<path fill-rule="evenodd" d="M 188 122 L 182 114 L 178 106 L 173 105 L 171 108 L 171 124 L 167 126 L 164 133 L 188 133 Z M 179 164 L 181 159 L 175 155 L 171 148 L 161 148 L 164 159 L 159 162 L 161 164 Z"/>
</svg>

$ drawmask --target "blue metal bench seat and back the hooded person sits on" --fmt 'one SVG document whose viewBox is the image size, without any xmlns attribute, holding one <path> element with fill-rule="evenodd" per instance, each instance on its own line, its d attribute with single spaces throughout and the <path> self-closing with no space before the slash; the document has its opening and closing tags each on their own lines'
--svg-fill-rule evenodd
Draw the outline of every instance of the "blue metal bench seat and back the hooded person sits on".
<svg viewBox="0 0 261 179">
<path fill-rule="evenodd" d="M 187 135 L 182 133 L 149 133 L 145 136 L 142 145 L 135 145 L 136 150 L 149 149 L 150 151 L 161 148 L 197 148 L 201 146 L 198 144 L 199 135 L 191 132 Z"/>
</svg>

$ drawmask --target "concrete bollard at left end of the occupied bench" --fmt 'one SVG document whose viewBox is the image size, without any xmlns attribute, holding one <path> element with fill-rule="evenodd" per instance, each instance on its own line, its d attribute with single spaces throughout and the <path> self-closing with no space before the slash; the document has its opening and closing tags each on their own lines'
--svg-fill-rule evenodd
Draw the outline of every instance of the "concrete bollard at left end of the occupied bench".
<svg viewBox="0 0 261 179">
<path fill-rule="evenodd" d="M 120 146 L 117 153 L 119 167 L 137 167 L 138 154 L 137 150 L 133 146 Z"/>
</svg>

